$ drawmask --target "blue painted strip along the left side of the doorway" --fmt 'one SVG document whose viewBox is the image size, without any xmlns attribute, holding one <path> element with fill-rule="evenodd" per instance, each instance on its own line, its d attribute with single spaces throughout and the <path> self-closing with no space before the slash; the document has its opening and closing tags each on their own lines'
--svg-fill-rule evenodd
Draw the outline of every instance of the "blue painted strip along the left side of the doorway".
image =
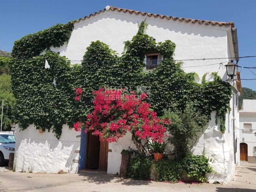
<svg viewBox="0 0 256 192">
<path fill-rule="evenodd" d="M 84 128 L 83 128 L 83 129 L 81 129 L 81 141 L 80 141 L 78 171 L 80 171 L 81 169 L 85 169 L 86 152 L 87 152 L 87 133 L 84 133 Z"/>
</svg>

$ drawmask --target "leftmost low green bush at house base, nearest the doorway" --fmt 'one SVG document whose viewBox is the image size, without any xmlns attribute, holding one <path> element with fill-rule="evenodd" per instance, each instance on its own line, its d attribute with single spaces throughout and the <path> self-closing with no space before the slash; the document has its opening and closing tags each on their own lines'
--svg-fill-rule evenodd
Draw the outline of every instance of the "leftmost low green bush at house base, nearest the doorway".
<svg viewBox="0 0 256 192">
<path fill-rule="evenodd" d="M 137 154 L 131 159 L 129 167 L 129 177 L 132 179 L 149 180 L 151 173 L 151 165 L 153 160 L 142 154 Z"/>
</svg>

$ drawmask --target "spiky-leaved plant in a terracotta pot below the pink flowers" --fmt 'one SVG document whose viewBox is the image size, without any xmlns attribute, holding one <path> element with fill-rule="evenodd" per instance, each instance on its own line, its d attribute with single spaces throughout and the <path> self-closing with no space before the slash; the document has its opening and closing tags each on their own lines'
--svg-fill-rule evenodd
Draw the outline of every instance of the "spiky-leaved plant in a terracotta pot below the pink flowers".
<svg viewBox="0 0 256 192">
<path fill-rule="evenodd" d="M 154 160 L 159 161 L 163 159 L 163 153 L 166 148 L 165 142 L 158 143 L 157 141 L 153 141 L 151 143 L 147 143 L 146 147 L 148 148 L 149 152 L 153 154 Z"/>
</svg>

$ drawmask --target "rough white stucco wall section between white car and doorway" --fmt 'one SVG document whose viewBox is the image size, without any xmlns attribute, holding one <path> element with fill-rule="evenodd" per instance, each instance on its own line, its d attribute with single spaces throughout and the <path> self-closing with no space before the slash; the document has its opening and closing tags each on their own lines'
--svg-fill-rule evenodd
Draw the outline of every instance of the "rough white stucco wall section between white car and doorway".
<svg viewBox="0 0 256 192">
<path fill-rule="evenodd" d="M 17 130 L 15 144 L 15 171 L 58 173 L 78 172 L 80 135 L 74 129 L 63 125 L 61 138 L 58 140 L 52 132 L 39 133 L 33 125 L 24 131 Z"/>
</svg>

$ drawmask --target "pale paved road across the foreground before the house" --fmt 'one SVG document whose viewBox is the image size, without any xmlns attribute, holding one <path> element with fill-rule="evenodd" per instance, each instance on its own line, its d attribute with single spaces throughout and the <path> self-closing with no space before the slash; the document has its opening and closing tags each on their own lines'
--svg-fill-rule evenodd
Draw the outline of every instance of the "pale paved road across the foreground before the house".
<svg viewBox="0 0 256 192">
<path fill-rule="evenodd" d="M 22 192 L 256 192 L 256 165 L 236 169 L 233 181 L 221 184 L 163 183 L 121 179 L 100 173 L 33 174 L 0 168 L 0 191 Z"/>
</svg>

